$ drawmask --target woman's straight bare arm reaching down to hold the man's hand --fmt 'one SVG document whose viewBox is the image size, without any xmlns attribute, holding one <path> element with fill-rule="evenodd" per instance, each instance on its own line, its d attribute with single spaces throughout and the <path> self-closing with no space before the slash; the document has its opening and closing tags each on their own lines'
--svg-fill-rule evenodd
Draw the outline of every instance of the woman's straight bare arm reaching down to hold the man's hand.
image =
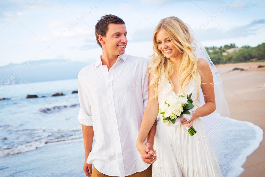
<svg viewBox="0 0 265 177">
<path fill-rule="evenodd" d="M 149 75 L 149 83 L 151 83 L 151 80 L 154 78 L 153 74 L 150 73 Z M 140 127 L 140 131 L 139 131 L 139 135 L 136 141 L 136 146 L 138 151 L 143 155 L 145 154 L 145 145 L 143 144 L 144 140 L 146 139 L 150 129 L 152 128 L 156 117 L 157 117 L 157 112 L 158 112 L 158 98 L 155 97 L 152 100 L 150 99 L 152 96 L 155 95 L 155 91 L 154 88 L 149 87 L 149 91 L 148 91 L 148 102 L 147 102 L 147 106 L 146 109 L 144 111 L 144 115 L 143 115 L 143 119 L 142 119 L 142 123 L 141 123 L 141 127 Z M 151 153 L 153 156 L 156 156 L 155 153 L 149 152 Z"/>
</svg>

